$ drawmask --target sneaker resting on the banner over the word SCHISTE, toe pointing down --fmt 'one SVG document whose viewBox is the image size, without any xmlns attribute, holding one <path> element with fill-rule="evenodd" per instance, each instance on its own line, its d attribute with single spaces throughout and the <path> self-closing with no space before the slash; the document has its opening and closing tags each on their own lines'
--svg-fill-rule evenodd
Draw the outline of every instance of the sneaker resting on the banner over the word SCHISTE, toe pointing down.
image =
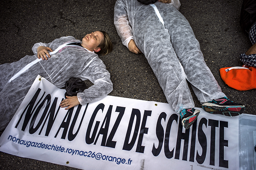
<svg viewBox="0 0 256 170">
<path fill-rule="evenodd" d="M 196 121 L 198 114 L 200 113 L 200 110 L 190 108 L 190 109 L 183 109 L 180 111 L 180 119 L 182 126 L 185 129 L 189 129 L 190 126 Z"/>
</svg>

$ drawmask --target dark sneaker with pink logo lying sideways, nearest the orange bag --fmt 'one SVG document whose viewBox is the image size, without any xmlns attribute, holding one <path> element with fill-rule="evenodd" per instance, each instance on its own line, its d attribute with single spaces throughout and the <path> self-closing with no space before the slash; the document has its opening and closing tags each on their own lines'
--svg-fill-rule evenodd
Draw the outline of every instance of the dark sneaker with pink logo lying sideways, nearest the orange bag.
<svg viewBox="0 0 256 170">
<path fill-rule="evenodd" d="M 245 110 L 243 104 L 235 103 L 227 99 L 227 97 L 208 101 L 202 104 L 202 108 L 208 113 L 223 114 L 225 116 L 238 116 Z"/>
</svg>

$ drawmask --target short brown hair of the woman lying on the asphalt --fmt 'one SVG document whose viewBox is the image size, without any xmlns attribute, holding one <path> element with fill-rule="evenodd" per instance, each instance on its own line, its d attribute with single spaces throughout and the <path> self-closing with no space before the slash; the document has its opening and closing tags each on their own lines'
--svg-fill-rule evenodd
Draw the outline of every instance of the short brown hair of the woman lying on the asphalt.
<svg viewBox="0 0 256 170">
<path fill-rule="evenodd" d="M 101 42 L 101 44 L 99 44 L 99 48 L 101 49 L 99 52 L 95 52 L 96 54 L 101 54 L 103 56 L 105 56 L 106 54 L 109 54 L 112 49 L 112 42 L 108 36 L 108 34 L 105 31 L 101 31 L 104 35 L 104 41 Z"/>
</svg>

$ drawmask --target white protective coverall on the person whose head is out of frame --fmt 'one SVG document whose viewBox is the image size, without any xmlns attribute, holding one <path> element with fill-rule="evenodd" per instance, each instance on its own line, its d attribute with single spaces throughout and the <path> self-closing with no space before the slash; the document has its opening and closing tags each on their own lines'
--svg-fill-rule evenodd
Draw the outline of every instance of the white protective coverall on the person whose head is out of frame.
<svg viewBox="0 0 256 170">
<path fill-rule="evenodd" d="M 134 39 L 145 55 L 173 110 L 179 113 L 194 107 L 186 79 L 201 103 L 225 97 L 204 61 L 190 24 L 177 10 L 180 2 L 157 1 L 153 6 L 137 0 L 117 0 L 114 24 L 122 43 L 128 47 Z"/>
</svg>

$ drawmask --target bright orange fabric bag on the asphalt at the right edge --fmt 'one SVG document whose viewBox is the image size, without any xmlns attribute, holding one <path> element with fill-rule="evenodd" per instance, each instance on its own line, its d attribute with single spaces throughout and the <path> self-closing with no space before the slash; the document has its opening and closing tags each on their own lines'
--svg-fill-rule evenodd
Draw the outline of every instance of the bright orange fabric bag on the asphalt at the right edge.
<svg viewBox="0 0 256 170">
<path fill-rule="evenodd" d="M 243 65 L 243 67 L 221 68 L 220 77 L 229 87 L 236 90 L 256 89 L 255 67 Z"/>
</svg>

